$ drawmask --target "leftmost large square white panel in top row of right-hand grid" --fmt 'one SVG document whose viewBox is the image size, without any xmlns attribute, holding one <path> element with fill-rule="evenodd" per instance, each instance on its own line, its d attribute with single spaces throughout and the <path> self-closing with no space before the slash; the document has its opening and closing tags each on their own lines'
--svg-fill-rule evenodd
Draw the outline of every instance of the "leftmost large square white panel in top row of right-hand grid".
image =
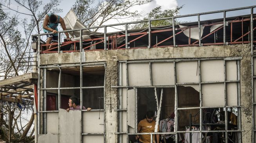
<svg viewBox="0 0 256 143">
<path fill-rule="evenodd" d="M 150 86 L 149 63 L 128 64 L 129 86 Z"/>
</svg>

